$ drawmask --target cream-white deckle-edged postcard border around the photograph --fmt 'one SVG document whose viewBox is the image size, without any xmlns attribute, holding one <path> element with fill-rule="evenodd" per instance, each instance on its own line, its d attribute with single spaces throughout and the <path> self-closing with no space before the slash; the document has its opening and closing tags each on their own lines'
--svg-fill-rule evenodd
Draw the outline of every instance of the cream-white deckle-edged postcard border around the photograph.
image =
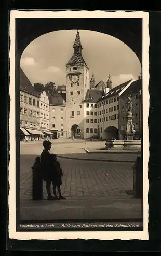
<svg viewBox="0 0 161 256">
<path fill-rule="evenodd" d="M 143 78 L 143 187 L 144 187 L 144 231 L 59 231 L 59 232 L 16 232 L 16 118 L 15 118 L 15 20 L 16 18 L 142 18 L 143 19 L 143 60 L 142 60 L 142 78 Z M 148 161 L 149 161 L 149 129 L 148 129 L 148 115 L 149 115 L 149 13 L 143 11 L 21 11 L 11 10 L 10 12 L 10 114 L 9 114 L 9 142 L 10 142 L 10 161 L 9 161 L 9 238 L 18 240 L 30 239 L 44 239 L 44 240 L 58 240 L 58 239 L 99 239 L 99 240 L 130 240 L 140 239 L 148 240 Z"/>
</svg>

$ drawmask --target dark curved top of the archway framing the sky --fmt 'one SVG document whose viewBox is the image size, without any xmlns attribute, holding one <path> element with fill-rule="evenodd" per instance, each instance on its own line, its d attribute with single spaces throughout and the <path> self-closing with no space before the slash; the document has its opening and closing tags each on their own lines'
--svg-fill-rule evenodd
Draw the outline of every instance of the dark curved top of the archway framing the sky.
<svg viewBox="0 0 161 256">
<path fill-rule="evenodd" d="M 136 53 L 142 65 L 142 18 L 17 18 L 17 60 L 20 60 L 26 46 L 37 37 L 52 31 L 71 29 L 97 31 L 118 38 Z"/>
</svg>

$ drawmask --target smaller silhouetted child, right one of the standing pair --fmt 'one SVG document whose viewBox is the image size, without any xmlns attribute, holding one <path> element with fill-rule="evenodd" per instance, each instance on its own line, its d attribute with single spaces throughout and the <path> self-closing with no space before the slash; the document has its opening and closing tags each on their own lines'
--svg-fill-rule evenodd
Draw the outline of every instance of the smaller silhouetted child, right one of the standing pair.
<svg viewBox="0 0 161 256">
<path fill-rule="evenodd" d="M 61 189 L 60 185 L 62 185 L 62 169 L 60 166 L 60 163 L 57 161 L 57 157 L 55 154 L 50 154 L 50 177 L 53 185 L 53 195 L 55 196 L 55 199 L 66 199 L 61 195 Z M 59 198 L 56 193 L 56 187 L 58 189 Z"/>
</svg>

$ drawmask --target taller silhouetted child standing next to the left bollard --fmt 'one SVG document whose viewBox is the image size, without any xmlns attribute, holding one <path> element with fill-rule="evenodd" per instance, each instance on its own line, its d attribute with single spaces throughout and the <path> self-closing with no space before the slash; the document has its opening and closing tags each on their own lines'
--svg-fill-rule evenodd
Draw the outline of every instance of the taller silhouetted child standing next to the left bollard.
<svg viewBox="0 0 161 256">
<path fill-rule="evenodd" d="M 51 179 L 50 179 L 50 166 L 49 166 L 49 156 L 51 149 L 51 142 L 49 140 L 45 140 L 43 142 L 44 150 L 41 153 L 41 163 L 42 163 L 42 171 L 43 171 L 43 179 L 46 181 L 46 190 L 47 190 L 47 200 L 54 200 L 54 197 L 51 196 Z"/>
</svg>

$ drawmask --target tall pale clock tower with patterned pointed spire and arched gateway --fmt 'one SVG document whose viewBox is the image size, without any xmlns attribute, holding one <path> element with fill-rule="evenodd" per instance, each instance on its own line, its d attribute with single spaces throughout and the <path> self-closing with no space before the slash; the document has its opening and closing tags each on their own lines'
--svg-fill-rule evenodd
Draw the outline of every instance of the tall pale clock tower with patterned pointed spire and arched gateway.
<svg viewBox="0 0 161 256">
<path fill-rule="evenodd" d="M 82 44 L 77 30 L 74 53 L 66 64 L 66 126 L 67 137 L 84 131 L 84 99 L 89 89 L 89 68 L 82 56 Z"/>
</svg>

